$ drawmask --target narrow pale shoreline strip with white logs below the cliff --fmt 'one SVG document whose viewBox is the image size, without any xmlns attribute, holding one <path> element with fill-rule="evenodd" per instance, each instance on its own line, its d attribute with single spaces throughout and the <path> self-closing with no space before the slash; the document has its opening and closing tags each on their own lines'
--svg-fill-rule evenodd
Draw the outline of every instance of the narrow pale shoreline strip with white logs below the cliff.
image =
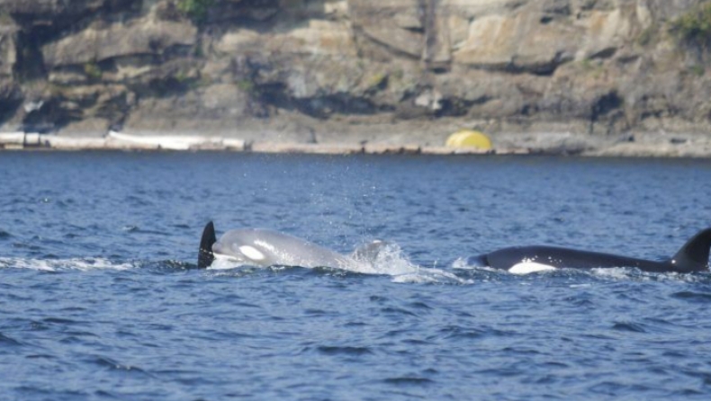
<svg viewBox="0 0 711 401">
<path fill-rule="evenodd" d="M 383 128 L 383 127 L 381 127 Z M 120 151 L 232 151 L 270 154 L 322 155 L 547 155 L 611 157 L 695 157 L 711 158 L 711 136 L 646 133 L 599 137 L 572 133 L 528 133 L 491 135 L 492 149 L 446 147 L 443 138 L 350 133 L 347 139 L 296 141 L 278 134 L 255 135 L 224 132 L 223 135 L 167 135 L 165 133 L 121 133 L 103 135 L 55 135 L 0 133 L 0 151 L 11 150 L 120 150 Z M 288 137 L 288 135 L 287 135 Z M 251 138 L 251 139 L 244 139 Z M 341 136 L 343 139 L 344 137 Z M 404 138 L 410 141 L 403 140 Z"/>
</svg>

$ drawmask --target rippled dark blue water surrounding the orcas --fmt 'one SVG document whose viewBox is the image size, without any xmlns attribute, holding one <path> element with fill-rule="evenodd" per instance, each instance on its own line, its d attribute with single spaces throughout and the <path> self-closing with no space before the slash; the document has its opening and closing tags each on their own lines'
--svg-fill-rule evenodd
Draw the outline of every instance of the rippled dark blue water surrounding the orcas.
<svg viewBox="0 0 711 401">
<path fill-rule="evenodd" d="M 401 252 L 199 271 L 210 219 Z M 0 153 L 0 398 L 708 399 L 708 273 L 464 263 L 708 226 L 704 160 Z"/>
</svg>

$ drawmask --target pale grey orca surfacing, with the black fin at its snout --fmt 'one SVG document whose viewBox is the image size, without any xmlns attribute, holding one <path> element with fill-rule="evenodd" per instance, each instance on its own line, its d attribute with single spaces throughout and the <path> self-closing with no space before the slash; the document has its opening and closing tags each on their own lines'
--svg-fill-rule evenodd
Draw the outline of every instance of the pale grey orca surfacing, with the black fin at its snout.
<svg viewBox="0 0 711 401">
<path fill-rule="evenodd" d="M 202 230 L 197 266 L 205 269 L 216 260 L 224 260 L 233 265 L 257 267 L 330 267 L 371 272 L 373 268 L 364 255 L 376 254 L 376 248 L 381 248 L 381 244 L 384 243 L 376 241 L 348 256 L 302 238 L 263 228 L 229 230 L 218 240 L 210 221 Z"/>
</svg>

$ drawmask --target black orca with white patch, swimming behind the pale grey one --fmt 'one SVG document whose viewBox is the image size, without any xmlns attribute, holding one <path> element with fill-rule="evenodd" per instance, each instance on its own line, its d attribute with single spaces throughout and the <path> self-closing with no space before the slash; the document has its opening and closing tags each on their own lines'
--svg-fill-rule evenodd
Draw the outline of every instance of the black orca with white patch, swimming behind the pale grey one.
<svg viewBox="0 0 711 401">
<path fill-rule="evenodd" d="M 644 272 L 704 272 L 708 271 L 709 248 L 711 248 L 711 228 L 699 231 L 671 259 L 659 262 L 617 254 L 538 245 L 503 248 L 477 256 L 470 262 L 518 274 L 563 268 L 609 267 L 632 267 Z"/>
</svg>

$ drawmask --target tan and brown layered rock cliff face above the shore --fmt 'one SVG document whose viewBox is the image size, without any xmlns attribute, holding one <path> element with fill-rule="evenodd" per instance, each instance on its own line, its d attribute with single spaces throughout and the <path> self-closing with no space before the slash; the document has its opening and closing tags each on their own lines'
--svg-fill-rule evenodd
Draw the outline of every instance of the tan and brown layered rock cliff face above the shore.
<svg viewBox="0 0 711 401">
<path fill-rule="evenodd" d="M 0 129 L 705 132 L 703 4 L 0 0 Z"/>
</svg>

